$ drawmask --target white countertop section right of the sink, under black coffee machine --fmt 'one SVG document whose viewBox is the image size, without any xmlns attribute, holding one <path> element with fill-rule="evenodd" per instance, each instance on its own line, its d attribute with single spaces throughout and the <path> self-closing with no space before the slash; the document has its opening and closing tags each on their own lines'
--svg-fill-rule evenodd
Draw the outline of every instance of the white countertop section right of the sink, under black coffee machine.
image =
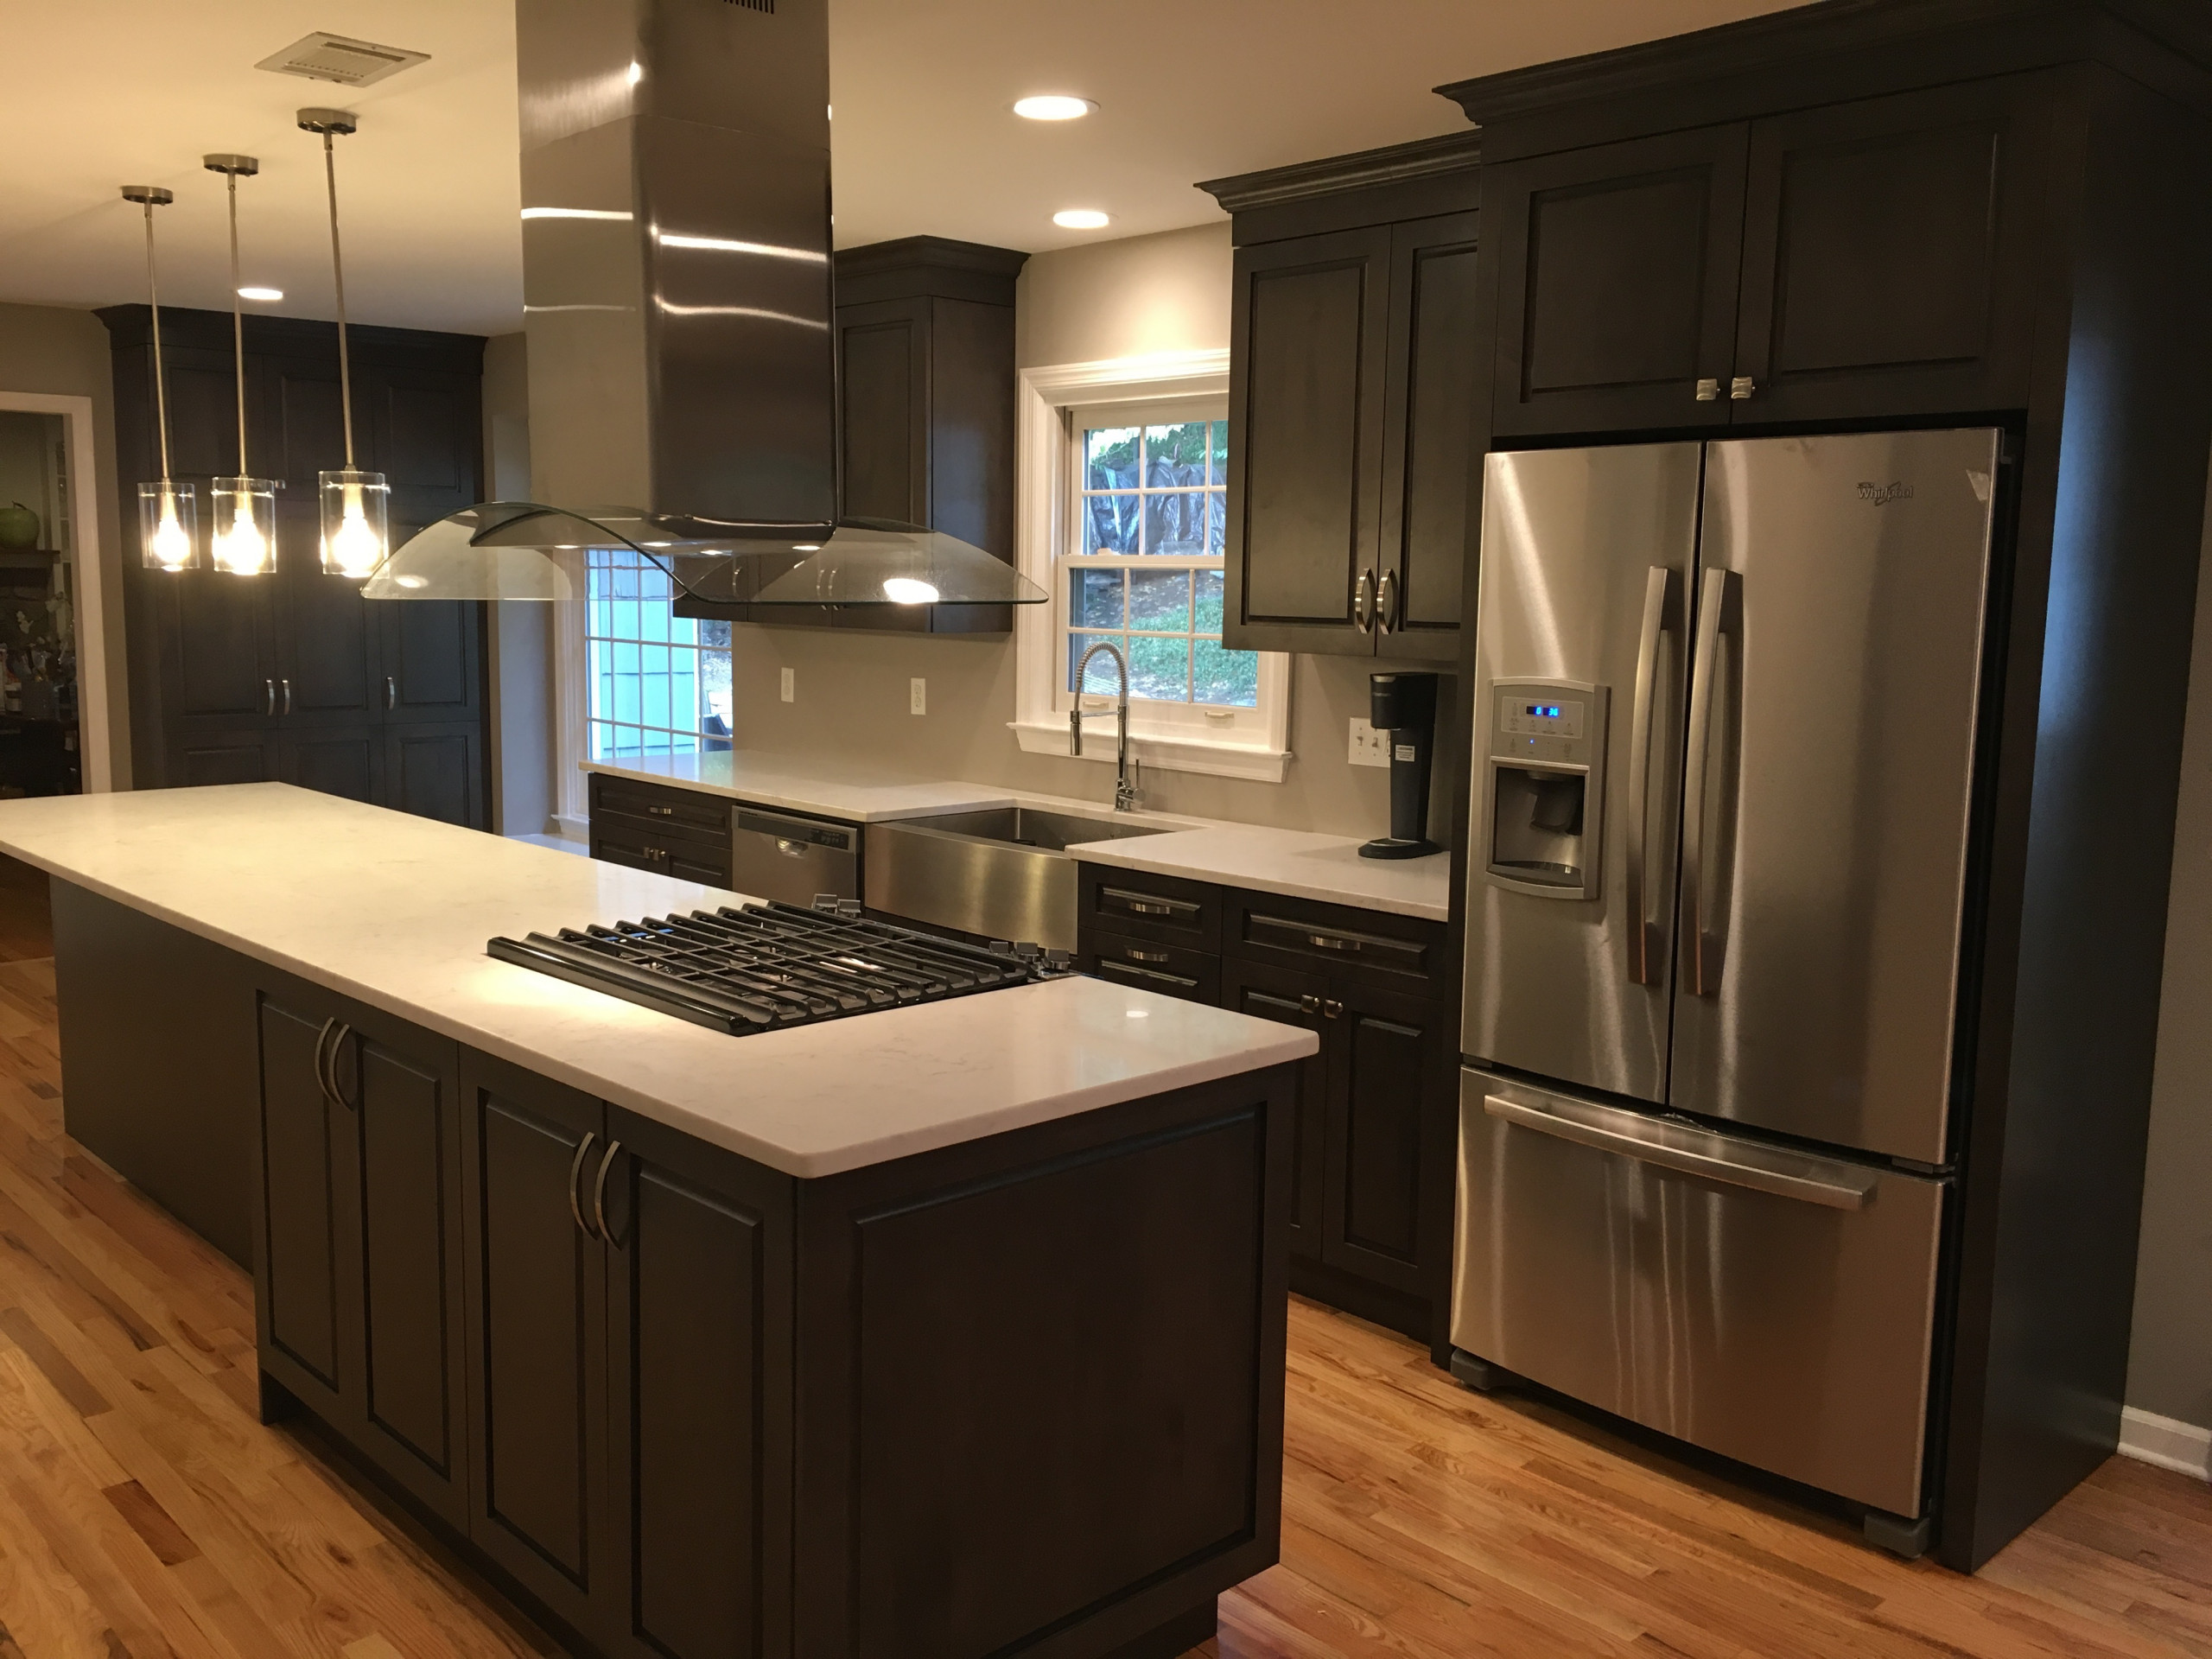
<svg viewBox="0 0 2212 1659">
<path fill-rule="evenodd" d="M 1352 836 L 1225 823 L 1164 836 L 1091 841 L 1068 852 L 1086 865 L 1146 869 L 1261 894 L 1318 898 L 1431 922 L 1451 918 L 1451 858 L 1360 858 Z"/>
</svg>

